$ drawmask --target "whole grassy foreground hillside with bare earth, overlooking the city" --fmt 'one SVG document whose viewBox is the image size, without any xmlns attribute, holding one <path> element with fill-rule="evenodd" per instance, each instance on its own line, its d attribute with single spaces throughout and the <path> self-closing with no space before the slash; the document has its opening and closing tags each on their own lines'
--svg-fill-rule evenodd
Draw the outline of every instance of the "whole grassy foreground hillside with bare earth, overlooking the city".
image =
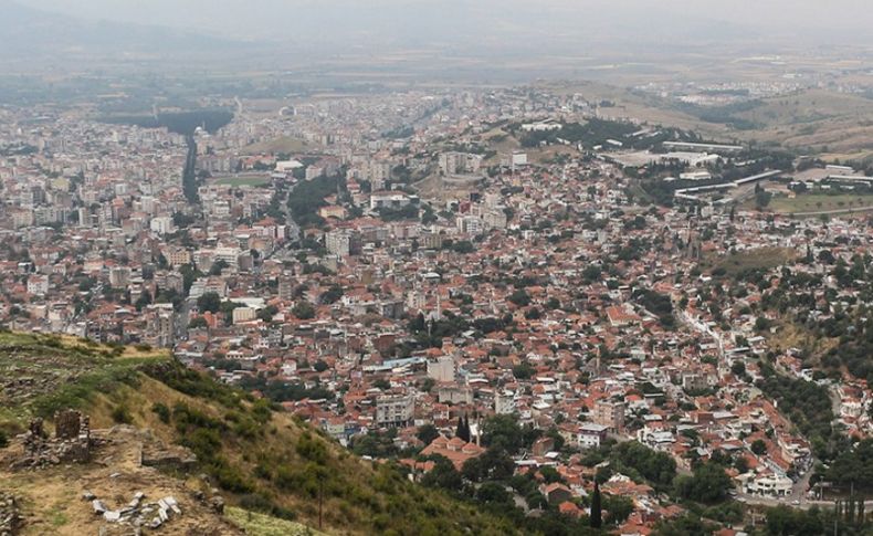
<svg viewBox="0 0 873 536">
<path fill-rule="evenodd" d="M 11 438 L 0 449 L 0 495 L 15 497 L 21 534 L 119 528 L 94 515 L 86 492 L 109 509 L 136 492 L 144 504 L 173 497 L 182 515 L 170 515 L 162 534 L 293 534 L 304 525 L 315 533 L 319 498 L 326 534 L 515 532 L 146 347 L 2 333 L 0 378 L 0 430 Z M 29 422 L 44 418 L 54 437 L 64 425 L 53 416 L 66 408 L 90 416 L 91 459 L 71 463 L 57 442 L 33 462 L 32 440 L 23 441 Z M 196 463 L 186 460 L 191 453 Z M 224 514 L 214 501 L 228 504 Z"/>
</svg>

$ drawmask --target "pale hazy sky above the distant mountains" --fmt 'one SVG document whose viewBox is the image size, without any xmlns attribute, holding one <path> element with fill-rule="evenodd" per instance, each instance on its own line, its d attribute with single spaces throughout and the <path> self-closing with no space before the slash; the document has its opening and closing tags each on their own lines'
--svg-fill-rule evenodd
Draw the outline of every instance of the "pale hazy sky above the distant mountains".
<svg viewBox="0 0 873 536">
<path fill-rule="evenodd" d="M 18 0 L 43 9 L 86 18 L 197 28 L 233 36 L 290 36 L 312 25 L 341 31 L 385 31 L 395 24 L 432 28 L 487 24 L 539 25 L 625 20 L 645 23 L 672 20 L 725 21 L 780 32 L 827 27 L 830 32 L 866 30 L 873 25 L 873 0 Z M 661 22 L 662 24 L 664 22 Z M 322 30 L 329 30 L 324 28 Z M 869 30 L 867 30 L 869 31 Z M 866 32 L 865 32 L 866 33 Z M 798 40 L 803 40 L 802 32 Z M 850 39 L 846 36 L 846 39 Z"/>
</svg>

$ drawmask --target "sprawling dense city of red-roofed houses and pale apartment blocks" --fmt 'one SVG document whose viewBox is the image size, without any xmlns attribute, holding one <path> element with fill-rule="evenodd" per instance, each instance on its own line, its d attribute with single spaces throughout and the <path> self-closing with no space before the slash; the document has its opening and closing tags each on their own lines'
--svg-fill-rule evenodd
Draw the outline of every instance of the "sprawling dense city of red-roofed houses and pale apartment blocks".
<svg viewBox="0 0 873 536">
<path fill-rule="evenodd" d="M 602 493 L 619 534 L 855 483 L 867 170 L 533 88 L 228 115 L 0 109 L 3 325 L 169 348 L 528 515 Z"/>
</svg>

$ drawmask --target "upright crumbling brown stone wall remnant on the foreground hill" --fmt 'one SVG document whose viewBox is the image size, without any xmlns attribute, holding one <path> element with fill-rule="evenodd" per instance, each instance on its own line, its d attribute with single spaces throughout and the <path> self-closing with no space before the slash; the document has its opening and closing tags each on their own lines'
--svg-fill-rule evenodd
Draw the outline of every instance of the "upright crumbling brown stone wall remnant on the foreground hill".
<svg viewBox="0 0 873 536">
<path fill-rule="evenodd" d="M 12 469 L 42 467 L 60 463 L 86 463 L 96 446 L 91 437 L 87 416 L 76 410 L 61 410 L 54 414 L 54 438 L 49 437 L 42 419 L 30 422 L 24 433 L 24 455 L 12 463 Z"/>
</svg>

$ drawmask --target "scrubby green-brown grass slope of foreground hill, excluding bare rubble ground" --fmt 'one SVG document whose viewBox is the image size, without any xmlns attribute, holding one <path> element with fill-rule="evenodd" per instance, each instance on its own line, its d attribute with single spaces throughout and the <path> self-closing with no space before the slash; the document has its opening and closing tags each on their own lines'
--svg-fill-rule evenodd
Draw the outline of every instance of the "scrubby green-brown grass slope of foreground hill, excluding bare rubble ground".
<svg viewBox="0 0 873 536">
<path fill-rule="evenodd" d="M 392 466 L 358 459 L 320 430 L 188 370 L 166 354 L 84 341 L 65 346 L 60 338 L 18 334 L 3 335 L 2 341 L 14 343 L 8 347 L 14 346 L 22 356 L 51 349 L 53 370 L 81 368 L 85 349 L 87 359 L 96 364 L 73 379 L 65 378 L 62 388 L 34 395 L 27 408 L 6 413 L 7 428 L 22 430 L 29 416 L 50 417 L 53 409 L 77 407 L 92 416 L 94 429 L 119 421 L 148 429 L 158 440 L 191 449 L 199 460 L 197 474 L 206 473 L 210 485 L 220 487 L 231 505 L 315 527 L 323 496 L 324 530 L 329 534 L 496 535 L 516 530 L 506 519 L 411 484 Z M 10 360 L 0 344 L 0 365 Z M 7 372 L 20 378 L 33 375 L 30 364 L 34 361 L 14 362 Z M 82 471 L 77 479 L 95 474 L 87 467 Z M 191 475 L 177 476 L 190 485 L 201 484 Z M 185 480 L 161 485 L 183 485 Z M 52 482 L 59 491 L 65 488 Z M 31 486 L 29 496 L 49 492 L 38 484 L 27 485 Z M 72 498 L 59 496 L 53 503 L 64 505 Z M 59 519 L 80 515 L 60 506 L 56 514 Z M 34 515 L 45 519 L 53 514 L 41 506 Z"/>
</svg>

